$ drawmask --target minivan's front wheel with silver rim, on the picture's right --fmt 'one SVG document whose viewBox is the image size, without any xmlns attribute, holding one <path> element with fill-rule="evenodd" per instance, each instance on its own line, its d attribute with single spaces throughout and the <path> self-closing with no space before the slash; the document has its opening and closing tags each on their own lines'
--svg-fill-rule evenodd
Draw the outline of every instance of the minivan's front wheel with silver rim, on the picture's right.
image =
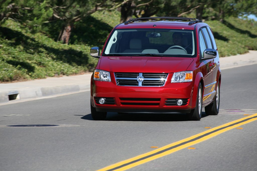
<svg viewBox="0 0 257 171">
<path fill-rule="evenodd" d="M 203 106 L 203 87 L 199 83 L 197 90 L 196 106 L 187 114 L 189 120 L 200 120 L 202 117 L 202 107 Z"/>
</svg>

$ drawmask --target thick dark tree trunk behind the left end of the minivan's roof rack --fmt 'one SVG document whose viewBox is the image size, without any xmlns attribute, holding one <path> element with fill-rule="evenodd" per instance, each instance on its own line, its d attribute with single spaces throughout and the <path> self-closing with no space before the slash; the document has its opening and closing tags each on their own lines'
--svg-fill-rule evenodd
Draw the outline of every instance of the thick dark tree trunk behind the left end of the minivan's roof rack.
<svg viewBox="0 0 257 171">
<path fill-rule="evenodd" d="M 136 4 L 134 2 L 125 3 L 121 6 L 121 23 L 128 21 L 132 18 L 136 10 Z"/>
</svg>

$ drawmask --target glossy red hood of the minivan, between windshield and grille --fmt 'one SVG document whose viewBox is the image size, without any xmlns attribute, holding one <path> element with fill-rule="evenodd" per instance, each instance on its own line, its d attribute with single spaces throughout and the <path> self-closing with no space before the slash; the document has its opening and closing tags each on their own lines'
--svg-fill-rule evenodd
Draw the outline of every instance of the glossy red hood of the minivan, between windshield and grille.
<svg viewBox="0 0 257 171">
<path fill-rule="evenodd" d="M 110 72 L 175 73 L 186 71 L 194 61 L 182 57 L 102 57 L 100 68 Z"/>
</svg>

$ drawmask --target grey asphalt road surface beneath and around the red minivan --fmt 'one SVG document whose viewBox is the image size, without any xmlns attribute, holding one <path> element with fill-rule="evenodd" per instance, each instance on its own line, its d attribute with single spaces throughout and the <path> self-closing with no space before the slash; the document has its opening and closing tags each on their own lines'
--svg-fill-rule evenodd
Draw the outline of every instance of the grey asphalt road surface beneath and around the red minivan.
<svg viewBox="0 0 257 171">
<path fill-rule="evenodd" d="M 187 121 L 185 114 L 117 113 L 95 121 L 90 116 L 89 92 L 0 106 L 0 170 L 98 170 L 250 117 L 257 113 L 256 73 L 256 64 L 223 70 L 220 113 L 204 113 L 200 121 Z M 128 170 L 256 171 L 256 123 Z"/>
</svg>

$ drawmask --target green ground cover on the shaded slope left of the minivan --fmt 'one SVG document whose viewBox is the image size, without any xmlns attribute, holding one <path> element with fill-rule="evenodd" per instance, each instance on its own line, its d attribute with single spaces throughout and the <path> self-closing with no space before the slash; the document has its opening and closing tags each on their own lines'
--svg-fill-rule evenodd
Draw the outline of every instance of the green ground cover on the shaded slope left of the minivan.
<svg viewBox="0 0 257 171">
<path fill-rule="evenodd" d="M 0 82 L 72 75 L 93 68 L 89 47 L 54 42 L 13 21 L 0 27 Z"/>
</svg>

